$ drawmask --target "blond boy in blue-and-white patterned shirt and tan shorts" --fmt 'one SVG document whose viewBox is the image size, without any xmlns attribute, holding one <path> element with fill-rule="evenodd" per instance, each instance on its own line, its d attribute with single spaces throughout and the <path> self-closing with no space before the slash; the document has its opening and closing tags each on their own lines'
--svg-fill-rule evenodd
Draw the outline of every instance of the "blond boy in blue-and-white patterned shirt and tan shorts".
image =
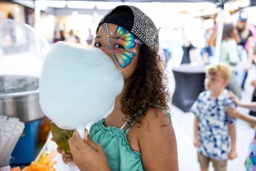
<svg viewBox="0 0 256 171">
<path fill-rule="evenodd" d="M 194 145 L 201 171 L 208 170 L 210 161 L 215 171 L 225 171 L 227 160 L 237 157 L 235 119 L 225 114 L 225 108 L 234 105 L 225 89 L 230 75 L 229 67 L 222 63 L 207 67 L 206 91 L 190 109 L 195 114 Z"/>
</svg>

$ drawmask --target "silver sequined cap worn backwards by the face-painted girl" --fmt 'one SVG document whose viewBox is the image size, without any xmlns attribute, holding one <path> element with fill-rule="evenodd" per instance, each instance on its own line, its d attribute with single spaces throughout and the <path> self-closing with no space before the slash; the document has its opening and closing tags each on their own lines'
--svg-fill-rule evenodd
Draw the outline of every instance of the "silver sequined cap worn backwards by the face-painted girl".
<svg viewBox="0 0 256 171">
<path fill-rule="evenodd" d="M 97 27 L 97 31 L 100 25 L 104 22 L 106 16 L 112 14 L 116 9 L 120 7 L 130 8 L 133 12 L 133 25 L 131 31 L 135 36 L 137 36 L 144 44 L 150 47 L 152 50 L 158 51 L 159 48 L 159 39 L 158 32 L 155 24 L 152 19 L 148 17 L 145 13 L 143 13 L 140 9 L 134 6 L 129 5 L 121 5 L 116 8 L 110 10 L 99 22 Z"/>
</svg>

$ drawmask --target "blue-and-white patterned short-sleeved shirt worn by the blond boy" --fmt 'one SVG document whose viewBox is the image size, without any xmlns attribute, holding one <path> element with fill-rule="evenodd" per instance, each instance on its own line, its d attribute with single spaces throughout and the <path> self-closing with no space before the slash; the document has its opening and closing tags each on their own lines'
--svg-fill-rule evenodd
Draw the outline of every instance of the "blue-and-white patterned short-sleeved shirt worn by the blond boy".
<svg viewBox="0 0 256 171">
<path fill-rule="evenodd" d="M 225 113 L 228 105 L 233 105 L 225 89 L 215 100 L 211 100 L 210 91 L 200 93 L 190 111 L 198 117 L 198 152 L 216 160 L 227 160 L 229 152 L 228 124 L 234 124 L 236 119 Z"/>
</svg>

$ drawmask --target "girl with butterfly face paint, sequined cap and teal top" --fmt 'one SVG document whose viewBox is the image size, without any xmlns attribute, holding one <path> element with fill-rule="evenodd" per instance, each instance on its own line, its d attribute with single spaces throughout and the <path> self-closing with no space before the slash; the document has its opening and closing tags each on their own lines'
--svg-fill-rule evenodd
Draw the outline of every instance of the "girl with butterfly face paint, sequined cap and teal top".
<svg viewBox="0 0 256 171">
<path fill-rule="evenodd" d="M 158 56 L 158 33 L 152 20 L 133 6 L 118 6 L 97 28 L 94 46 L 115 62 L 124 78 L 114 111 L 91 126 L 84 140 L 69 140 L 80 170 L 178 170 L 170 99 Z M 99 104 L 100 105 L 100 104 Z"/>
</svg>

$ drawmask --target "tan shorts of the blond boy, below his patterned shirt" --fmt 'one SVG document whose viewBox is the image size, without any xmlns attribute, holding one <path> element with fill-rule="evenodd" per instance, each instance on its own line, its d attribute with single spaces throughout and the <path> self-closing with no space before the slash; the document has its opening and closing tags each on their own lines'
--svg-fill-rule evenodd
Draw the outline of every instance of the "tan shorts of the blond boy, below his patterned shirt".
<svg viewBox="0 0 256 171">
<path fill-rule="evenodd" d="M 227 170 L 227 161 L 220 161 L 216 159 L 211 159 L 202 155 L 201 153 L 197 153 L 198 162 L 201 166 L 208 168 L 209 162 L 212 161 L 212 166 L 214 166 L 215 171 L 226 171 Z"/>
</svg>

